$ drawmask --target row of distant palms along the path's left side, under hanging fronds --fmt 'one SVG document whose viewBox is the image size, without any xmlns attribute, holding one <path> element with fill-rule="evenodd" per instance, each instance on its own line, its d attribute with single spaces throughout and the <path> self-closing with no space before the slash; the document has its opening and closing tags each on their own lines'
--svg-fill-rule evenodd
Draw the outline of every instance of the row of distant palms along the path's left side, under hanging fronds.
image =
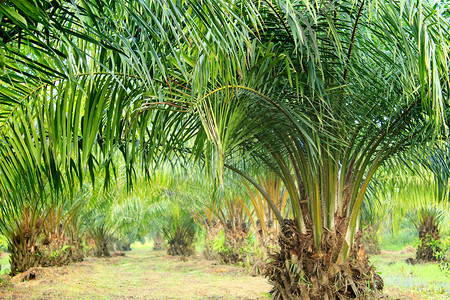
<svg viewBox="0 0 450 300">
<path fill-rule="evenodd" d="M 169 254 L 190 255 L 202 196 L 198 189 L 203 186 L 181 170 L 165 168 L 151 180 L 138 174 L 130 193 L 124 172 L 120 174 L 108 188 L 102 182 L 85 183 L 71 190 L 73 194 L 65 190 L 0 202 L 0 236 L 7 241 L 11 275 L 81 261 L 86 255 L 109 257 L 113 250 L 130 250 L 149 234 L 164 237 Z M 30 188 L 39 184 L 30 183 Z"/>
</svg>

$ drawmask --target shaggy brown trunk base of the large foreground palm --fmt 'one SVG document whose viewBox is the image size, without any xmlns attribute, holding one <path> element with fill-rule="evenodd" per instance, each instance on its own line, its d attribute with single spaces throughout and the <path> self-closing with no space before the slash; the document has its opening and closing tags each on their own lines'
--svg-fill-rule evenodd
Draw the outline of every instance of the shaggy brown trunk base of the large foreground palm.
<svg viewBox="0 0 450 300">
<path fill-rule="evenodd" d="M 281 251 L 272 256 L 265 276 L 273 284 L 272 299 L 378 299 L 383 280 L 365 257 L 352 250 L 346 262 L 336 263 L 336 235 L 325 232 L 315 249 L 312 234 L 301 234 L 286 220 L 279 237 Z M 358 246 L 359 243 L 355 243 Z"/>
</svg>

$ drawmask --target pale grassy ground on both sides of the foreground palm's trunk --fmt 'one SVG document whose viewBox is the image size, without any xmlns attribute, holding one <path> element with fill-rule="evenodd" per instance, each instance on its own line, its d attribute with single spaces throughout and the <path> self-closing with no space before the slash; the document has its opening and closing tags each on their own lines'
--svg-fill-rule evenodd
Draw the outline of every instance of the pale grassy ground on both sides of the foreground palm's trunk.
<svg viewBox="0 0 450 300">
<path fill-rule="evenodd" d="M 450 278 L 435 264 L 404 263 L 413 254 L 384 251 L 371 259 L 385 280 L 388 299 L 450 299 Z M 0 299 L 267 299 L 270 290 L 264 278 L 246 275 L 242 268 L 200 256 L 180 261 L 150 249 L 41 272 L 35 280 L 0 288 Z"/>
</svg>

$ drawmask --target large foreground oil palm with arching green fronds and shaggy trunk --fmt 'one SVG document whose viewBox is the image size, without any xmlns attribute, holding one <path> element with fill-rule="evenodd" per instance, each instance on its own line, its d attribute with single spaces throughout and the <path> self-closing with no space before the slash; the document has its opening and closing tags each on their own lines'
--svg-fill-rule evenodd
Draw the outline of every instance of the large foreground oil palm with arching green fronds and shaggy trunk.
<svg viewBox="0 0 450 300">
<path fill-rule="evenodd" d="M 448 49 L 448 41 L 425 46 L 420 37 L 425 29 L 419 30 L 422 33 L 417 29 L 424 21 L 420 9 L 407 16 L 396 3 L 385 3 L 372 16 L 364 2 L 320 6 L 314 16 L 308 15 L 312 8 L 303 3 L 271 4 L 274 7 L 261 12 L 263 18 L 278 12 L 287 29 L 283 23 L 266 22 L 265 33 L 272 34 L 262 36 L 264 46 L 249 55 L 258 67 L 244 73 L 242 87 L 219 88 L 199 108 L 205 131 L 216 146 L 210 162 L 227 161 L 229 169 L 258 186 L 234 163 L 245 149 L 284 181 L 295 221 L 286 222 L 280 237 L 282 251 L 268 268 L 274 298 L 358 297 L 365 290 L 361 283 L 367 287 L 366 280 L 370 289 L 382 288 L 365 258 L 358 255 L 360 243 L 354 238 L 365 192 L 386 159 L 423 142 L 437 129 L 432 120 L 442 116 L 426 108 L 437 108 L 433 101 L 446 97 L 441 82 L 448 74 L 431 63 L 442 77 L 424 81 L 421 74 L 427 73 L 427 67 L 422 65 L 422 54 L 429 46 Z M 426 36 L 433 39 L 432 31 Z M 277 49 L 271 52 L 278 55 L 279 63 L 274 57 L 265 64 L 270 47 Z M 439 56 L 433 60 L 440 60 Z M 289 75 L 293 70 L 295 79 Z M 251 139 L 239 139 L 244 134 Z M 266 200 L 273 203 L 268 196 Z M 346 277 L 348 268 L 364 275 Z M 350 288 L 354 285 L 358 288 Z"/>
</svg>

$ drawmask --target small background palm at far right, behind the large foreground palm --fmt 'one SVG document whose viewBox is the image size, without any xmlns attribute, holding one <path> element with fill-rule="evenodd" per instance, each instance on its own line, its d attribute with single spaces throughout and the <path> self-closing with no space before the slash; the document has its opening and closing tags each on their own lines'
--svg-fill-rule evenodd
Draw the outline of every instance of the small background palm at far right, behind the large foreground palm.
<svg viewBox="0 0 450 300">
<path fill-rule="evenodd" d="M 417 261 L 436 261 L 440 230 L 447 219 L 448 202 L 443 201 L 447 191 L 429 168 L 430 162 L 440 160 L 436 157 L 436 149 L 428 146 L 416 148 L 415 152 L 419 154 L 408 154 L 402 160 L 393 159 L 379 170 L 376 175 L 378 185 L 371 196 L 378 198 L 380 203 L 372 209 L 374 214 L 378 213 L 376 218 L 380 222 L 386 217 L 390 219 L 394 232 L 405 219 L 412 222 L 419 238 Z M 440 190 L 440 186 L 444 189 Z"/>
</svg>

